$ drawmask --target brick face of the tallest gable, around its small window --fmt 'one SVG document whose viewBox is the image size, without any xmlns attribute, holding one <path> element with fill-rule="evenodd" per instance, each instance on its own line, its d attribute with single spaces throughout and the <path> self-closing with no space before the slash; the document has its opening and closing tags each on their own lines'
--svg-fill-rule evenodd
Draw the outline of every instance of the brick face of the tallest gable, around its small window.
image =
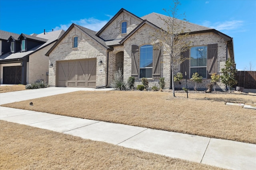
<svg viewBox="0 0 256 170">
<path fill-rule="evenodd" d="M 121 34 L 121 24 L 122 22 L 127 22 L 126 33 Z M 142 20 L 135 18 L 127 12 L 122 12 L 114 21 L 112 21 L 102 33 L 100 37 L 104 40 L 112 40 L 124 38 L 128 33 L 130 33 L 134 28 L 136 28 Z"/>
</svg>

